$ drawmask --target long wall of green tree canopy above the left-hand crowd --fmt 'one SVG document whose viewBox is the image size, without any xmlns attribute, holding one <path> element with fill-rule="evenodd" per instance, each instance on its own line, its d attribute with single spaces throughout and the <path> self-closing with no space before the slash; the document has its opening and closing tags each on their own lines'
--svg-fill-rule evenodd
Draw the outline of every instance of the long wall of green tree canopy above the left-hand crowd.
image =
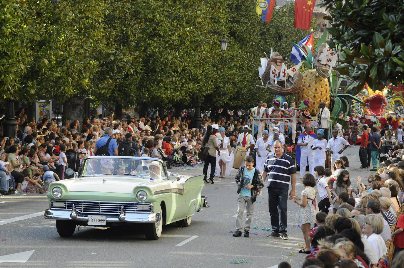
<svg viewBox="0 0 404 268">
<path fill-rule="evenodd" d="M 271 50 L 288 61 L 309 31 L 293 4 L 260 21 L 255 0 L 0 0 L 0 92 L 29 103 L 90 96 L 150 107 L 249 107 L 273 95 L 258 77 Z M 313 25 L 314 27 L 314 25 Z M 227 38 L 227 51 L 219 39 Z"/>
</svg>

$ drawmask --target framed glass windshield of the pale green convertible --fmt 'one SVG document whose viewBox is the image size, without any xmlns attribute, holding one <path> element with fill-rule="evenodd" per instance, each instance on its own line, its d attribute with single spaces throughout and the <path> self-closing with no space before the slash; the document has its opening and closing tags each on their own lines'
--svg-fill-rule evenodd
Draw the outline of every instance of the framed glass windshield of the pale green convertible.
<svg viewBox="0 0 404 268">
<path fill-rule="evenodd" d="M 87 158 L 80 176 L 128 176 L 152 179 L 166 179 L 160 161 L 135 158 Z"/>
</svg>

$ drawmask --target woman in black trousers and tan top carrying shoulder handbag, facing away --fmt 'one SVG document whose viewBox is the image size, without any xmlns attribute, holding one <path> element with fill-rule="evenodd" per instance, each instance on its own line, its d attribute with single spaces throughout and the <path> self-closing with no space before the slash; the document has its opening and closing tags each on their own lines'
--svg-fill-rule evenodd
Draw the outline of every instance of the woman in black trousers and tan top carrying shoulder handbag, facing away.
<svg viewBox="0 0 404 268">
<path fill-rule="evenodd" d="M 204 158 L 203 160 L 205 161 L 204 167 L 203 167 L 203 173 L 205 174 L 205 177 L 203 180 L 205 183 L 208 183 L 208 180 L 206 179 L 206 174 L 208 172 L 208 166 L 210 164 L 209 180 L 210 180 L 211 184 L 214 184 L 213 176 L 215 175 L 215 169 L 216 169 L 215 150 L 217 151 L 218 155 L 220 156 L 220 150 L 217 145 L 217 137 L 215 135 L 216 132 L 217 132 L 216 128 L 212 128 L 212 126 L 208 125 L 206 128 L 206 134 L 202 138 L 202 157 Z M 207 152 L 207 154 L 206 154 L 206 152 Z"/>
</svg>

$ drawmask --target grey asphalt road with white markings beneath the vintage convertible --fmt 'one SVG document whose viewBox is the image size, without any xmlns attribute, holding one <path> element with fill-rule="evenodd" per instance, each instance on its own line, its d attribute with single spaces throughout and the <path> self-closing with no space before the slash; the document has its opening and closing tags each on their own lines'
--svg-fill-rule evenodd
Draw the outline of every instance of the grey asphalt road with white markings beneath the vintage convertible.
<svg viewBox="0 0 404 268">
<path fill-rule="evenodd" d="M 358 151 L 359 147 L 345 151 L 351 161 L 350 178 L 360 175 L 366 181 L 371 172 L 358 168 Z M 197 165 L 170 171 L 197 175 L 202 174 L 202 168 Z M 193 216 L 189 227 L 164 226 L 157 241 L 146 240 L 137 228 L 122 227 L 80 227 L 73 237 L 62 238 L 57 234 L 55 221 L 42 216 L 48 207 L 45 195 L 5 196 L 2 200 L 6 203 L 0 204 L 0 268 L 267 268 L 277 267 L 281 261 L 301 267 L 305 255 L 297 252 L 301 247 L 296 244 L 304 242 L 297 226 L 298 205 L 293 201 L 288 201 L 288 241 L 265 237 L 264 230 L 252 230 L 249 238 L 231 235 L 237 212 L 236 170 L 231 174 L 226 179 L 216 178 L 215 184 L 205 185 L 202 194 L 208 196 L 210 207 Z M 356 185 L 355 179 L 352 184 Z M 253 225 L 270 228 L 266 188 L 263 190 L 255 205 Z M 302 190 L 298 175 L 296 195 L 300 196 Z M 229 263 L 236 259 L 248 263 Z"/>
</svg>

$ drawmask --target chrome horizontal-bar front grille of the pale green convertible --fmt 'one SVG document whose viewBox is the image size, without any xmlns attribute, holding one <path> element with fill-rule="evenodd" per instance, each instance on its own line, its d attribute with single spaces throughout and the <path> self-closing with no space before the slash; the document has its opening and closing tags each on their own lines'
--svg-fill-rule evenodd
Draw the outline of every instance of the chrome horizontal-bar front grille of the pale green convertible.
<svg viewBox="0 0 404 268">
<path fill-rule="evenodd" d="M 65 200 L 65 207 L 57 207 L 53 206 L 53 202 L 54 201 L 50 202 L 50 208 L 55 209 L 72 210 L 74 204 L 77 212 L 81 215 L 108 214 L 118 216 L 120 214 L 122 206 L 124 206 L 124 211 L 128 213 L 130 212 L 150 213 L 153 211 L 152 205 L 148 203 Z"/>
</svg>

